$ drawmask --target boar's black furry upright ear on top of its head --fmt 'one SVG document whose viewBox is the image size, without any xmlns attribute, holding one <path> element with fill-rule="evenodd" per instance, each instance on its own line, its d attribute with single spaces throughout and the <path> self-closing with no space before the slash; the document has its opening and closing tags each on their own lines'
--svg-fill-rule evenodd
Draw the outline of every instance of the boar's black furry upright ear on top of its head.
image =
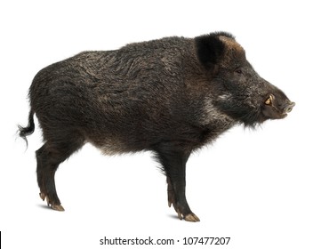
<svg viewBox="0 0 329 249">
<path fill-rule="evenodd" d="M 197 47 L 197 58 L 207 70 L 213 71 L 224 53 L 225 44 L 220 36 L 229 36 L 227 33 L 212 33 L 195 38 Z"/>
</svg>

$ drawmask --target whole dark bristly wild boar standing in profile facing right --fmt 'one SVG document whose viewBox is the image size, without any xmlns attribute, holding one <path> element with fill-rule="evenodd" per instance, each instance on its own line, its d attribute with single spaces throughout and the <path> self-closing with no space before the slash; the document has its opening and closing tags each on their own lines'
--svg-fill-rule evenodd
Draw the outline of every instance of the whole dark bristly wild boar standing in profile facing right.
<svg viewBox="0 0 329 249">
<path fill-rule="evenodd" d="M 105 154 L 150 150 L 180 219 L 199 221 L 185 197 L 190 154 L 236 124 L 283 118 L 294 106 L 261 78 L 235 37 L 216 32 L 165 37 L 116 51 L 81 52 L 39 71 L 29 88 L 28 126 L 39 120 L 36 150 L 40 197 L 64 211 L 54 174 L 86 142 Z"/>
</svg>

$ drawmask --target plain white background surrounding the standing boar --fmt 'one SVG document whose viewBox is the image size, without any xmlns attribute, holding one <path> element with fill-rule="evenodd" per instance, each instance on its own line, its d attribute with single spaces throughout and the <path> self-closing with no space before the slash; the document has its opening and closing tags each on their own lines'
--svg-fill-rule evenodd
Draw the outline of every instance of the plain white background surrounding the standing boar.
<svg viewBox="0 0 329 249">
<path fill-rule="evenodd" d="M 325 1 L 6 2 L 0 4 L 4 248 L 100 248 L 105 236 L 231 237 L 223 248 L 329 248 Z M 27 124 L 36 72 L 84 50 L 215 30 L 233 33 L 253 67 L 296 107 L 256 131 L 231 129 L 190 157 L 187 197 L 201 222 L 180 221 L 168 208 L 164 175 L 149 153 L 105 157 L 89 145 L 56 174 L 66 211 L 46 208 L 36 184 L 40 130 L 26 151 L 16 134 L 16 124 Z"/>
</svg>

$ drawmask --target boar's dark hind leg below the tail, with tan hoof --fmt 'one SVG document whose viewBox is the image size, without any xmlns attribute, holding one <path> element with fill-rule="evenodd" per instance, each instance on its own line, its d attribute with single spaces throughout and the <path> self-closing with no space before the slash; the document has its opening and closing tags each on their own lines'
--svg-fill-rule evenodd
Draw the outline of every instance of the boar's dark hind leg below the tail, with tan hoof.
<svg viewBox="0 0 329 249">
<path fill-rule="evenodd" d="M 56 192 L 55 172 L 60 163 L 65 161 L 77 149 L 80 149 L 83 144 L 83 141 L 79 140 L 74 142 L 46 141 L 40 149 L 36 150 L 36 174 L 40 197 L 43 200 L 46 199 L 47 205 L 54 210 L 64 211 Z"/>
</svg>

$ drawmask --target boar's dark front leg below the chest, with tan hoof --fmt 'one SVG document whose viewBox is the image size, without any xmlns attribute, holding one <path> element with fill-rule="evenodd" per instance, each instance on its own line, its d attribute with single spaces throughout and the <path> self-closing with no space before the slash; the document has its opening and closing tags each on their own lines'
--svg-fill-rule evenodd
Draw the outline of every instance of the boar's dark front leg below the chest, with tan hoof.
<svg viewBox="0 0 329 249">
<path fill-rule="evenodd" d="M 162 143 L 156 148 L 159 162 L 163 166 L 168 183 L 168 205 L 178 213 L 178 217 L 185 221 L 200 221 L 197 215 L 192 213 L 185 197 L 185 173 L 186 163 L 189 159 L 190 150 L 181 149 L 173 143 Z"/>
</svg>

